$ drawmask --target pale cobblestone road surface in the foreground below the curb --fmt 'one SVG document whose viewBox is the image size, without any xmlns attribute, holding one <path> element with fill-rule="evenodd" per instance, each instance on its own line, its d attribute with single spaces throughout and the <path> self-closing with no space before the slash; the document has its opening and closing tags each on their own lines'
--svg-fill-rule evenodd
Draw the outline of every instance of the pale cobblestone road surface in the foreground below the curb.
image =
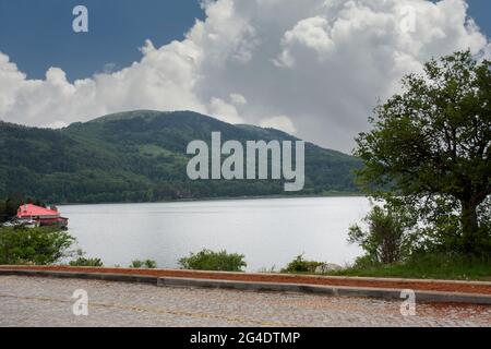
<svg viewBox="0 0 491 349">
<path fill-rule="evenodd" d="M 88 292 L 88 316 L 72 294 Z M 0 326 L 491 326 L 491 306 L 0 276 Z"/>
</svg>

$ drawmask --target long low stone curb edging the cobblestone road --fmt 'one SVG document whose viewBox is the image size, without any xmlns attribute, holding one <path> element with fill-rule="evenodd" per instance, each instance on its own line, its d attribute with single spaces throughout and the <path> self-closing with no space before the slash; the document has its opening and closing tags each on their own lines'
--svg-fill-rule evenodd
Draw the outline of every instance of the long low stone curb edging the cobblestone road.
<svg viewBox="0 0 491 349">
<path fill-rule="evenodd" d="M 82 272 L 52 272 L 26 269 L 0 269 L 0 276 L 37 276 L 53 278 L 77 278 L 104 281 L 119 281 L 133 284 L 149 284 L 159 287 L 183 288 L 212 288 L 233 289 L 241 291 L 271 291 L 326 294 L 337 297 L 360 297 L 400 300 L 403 289 L 325 286 L 308 284 L 261 282 L 219 279 L 200 279 L 183 277 L 157 277 L 146 275 L 110 274 L 110 273 L 82 273 Z M 416 301 L 424 303 L 465 303 L 491 305 L 491 296 L 479 293 L 441 292 L 415 290 Z"/>
</svg>

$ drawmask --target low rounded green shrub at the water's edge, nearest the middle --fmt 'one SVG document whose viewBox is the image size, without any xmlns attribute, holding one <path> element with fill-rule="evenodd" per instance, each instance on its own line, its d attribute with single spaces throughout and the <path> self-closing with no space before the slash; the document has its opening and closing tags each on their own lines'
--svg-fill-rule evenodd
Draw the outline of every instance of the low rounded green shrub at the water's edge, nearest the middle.
<svg viewBox="0 0 491 349">
<path fill-rule="evenodd" d="M 189 257 L 179 260 L 179 265 L 184 269 L 193 270 L 220 270 L 220 272 L 242 272 L 247 266 L 243 254 L 227 253 L 227 251 L 213 252 L 202 250 L 191 253 Z"/>
</svg>

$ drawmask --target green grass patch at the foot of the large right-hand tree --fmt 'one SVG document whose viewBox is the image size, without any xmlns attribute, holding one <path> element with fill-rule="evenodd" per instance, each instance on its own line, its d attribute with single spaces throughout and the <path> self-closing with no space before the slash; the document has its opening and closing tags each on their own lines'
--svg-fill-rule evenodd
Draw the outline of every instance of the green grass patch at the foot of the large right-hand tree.
<svg viewBox="0 0 491 349">
<path fill-rule="evenodd" d="M 491 261 L 428 255 L 404 264 L 354 266 L 330 275 L 491 281 Z"/>
</svg>

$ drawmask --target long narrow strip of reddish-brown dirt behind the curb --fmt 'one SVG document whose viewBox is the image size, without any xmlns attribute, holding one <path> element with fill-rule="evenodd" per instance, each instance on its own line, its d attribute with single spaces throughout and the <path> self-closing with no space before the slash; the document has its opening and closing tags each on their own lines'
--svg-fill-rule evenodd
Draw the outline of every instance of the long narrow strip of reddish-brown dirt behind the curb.
<svg viewBox="0 0 491 349">
<path fill-rule="evenodd" d="M 448 282 L 448 281 L 415 281 L 415 280 L 367 280 L 356 277 L 328 277 L 328 276 L 306 276 L 306 275 L 270 275 L 270 274 L 247 274 L 247 273 L 213 273 L 194 270 L 171 270 L 171 269 L 134 269 L 134 268 L 94 268 L 94 267 L 69 267 L 69 266 L 0 266 L 0 269 L 22 269 L 22 270 L 52 270 L 52 272 L 81 272 L 81 273 L 107 273 L 125 275 L 146 275 L 156 277 L 182 277 L 215 280 L 236 281 L 259 281 L 259 282 L 283 282 L 283 284 L 307 284 L 325 286 L 347 286 L 347 287 L 372 287 L 372 288 L 394 288 L 412 289 L 442 292 L 463 292 L 491 294 L 491 284 L 479 282 Z"/>
</svg>

